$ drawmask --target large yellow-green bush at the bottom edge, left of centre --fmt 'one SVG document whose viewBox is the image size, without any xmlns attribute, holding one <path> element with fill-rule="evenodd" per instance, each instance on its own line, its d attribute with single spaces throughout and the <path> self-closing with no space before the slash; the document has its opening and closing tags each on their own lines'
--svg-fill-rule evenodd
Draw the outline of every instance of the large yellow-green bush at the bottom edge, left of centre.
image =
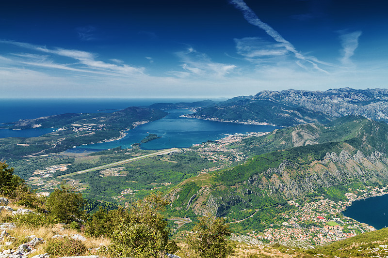
<svg viewBox="0 0 388 258">
<path fill-rule="evenodd" d="M 94 230 L 93 232 L 97 234 L 97 232 L 103 232 L 100 230 L 104 225 L 111 225 L 110 223 L 115 224 L 121 221 L 117 226 L 112 224 L 114 232 L 111 237 L 112 244 L 107 248 L 109 256 L 134 258 L 164 257 L 166 252 L 178 250 L 178 246 L 175 243 L 168 243 L 169 230 L 166 228 L 167 222 L 162 214 L 159 213 L 164 211 L 164 207 L 167 204 L 168 201 L 162 197 L 162 193 L 158 193 L 133 202 L 129 211 L 117 210 L 106 212 L 100 210 L 94 216 L 98 223 L 97 227 L 93 228 L 91 225 L 88 225 L 88 232 Z M 108 215 L 110 213 L 114 216 L 110 217 Z"/>
</svg>

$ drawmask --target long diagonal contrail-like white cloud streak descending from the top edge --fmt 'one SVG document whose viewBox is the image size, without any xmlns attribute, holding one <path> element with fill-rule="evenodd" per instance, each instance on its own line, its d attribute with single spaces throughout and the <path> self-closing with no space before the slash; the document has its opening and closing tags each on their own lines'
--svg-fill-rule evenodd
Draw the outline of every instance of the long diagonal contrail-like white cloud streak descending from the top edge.
<svg viewBox="0 0 388 258">
<path fill-rule="evenodd" d="M 301 64 L 301 61 L 307 62 L 315 70 L 321 71 L 323 73 L 328 74 L 327 71 L 320 68 L 316 61 L 314 61 L 311 57 L 306 57 L 303 54 L 301 54 L 299 51 L 296 50 L 296 48 L 285 38 L 282 37 L 282 35 L 279 34 L 276 30 L 274 30 L 270 25 L 267 23 L 261 21 L 259 17 L 252 11 L 251 8 L 249 8 L 246 3 L 243 0 L 231 0 L 230 3 L 232 3 L 237 9 L 242 11 L 242 14 L 244 15 L 244 18 L 247 22 L 250 24 L 259 27 L 260 29 L 264 30 L 269 36 L 271 36 L 276 42 L 283 44 L 283 46 L 287 49 L 287 51 L 293 53 L 295 58 L 299 60 L 299 62 L 296 62 L 297 64 Z M 316 59 L 315 59 L 316 60 Z M 305 65 L 302 65 L 303 68 L 307 69 Z"/>
</svg>

